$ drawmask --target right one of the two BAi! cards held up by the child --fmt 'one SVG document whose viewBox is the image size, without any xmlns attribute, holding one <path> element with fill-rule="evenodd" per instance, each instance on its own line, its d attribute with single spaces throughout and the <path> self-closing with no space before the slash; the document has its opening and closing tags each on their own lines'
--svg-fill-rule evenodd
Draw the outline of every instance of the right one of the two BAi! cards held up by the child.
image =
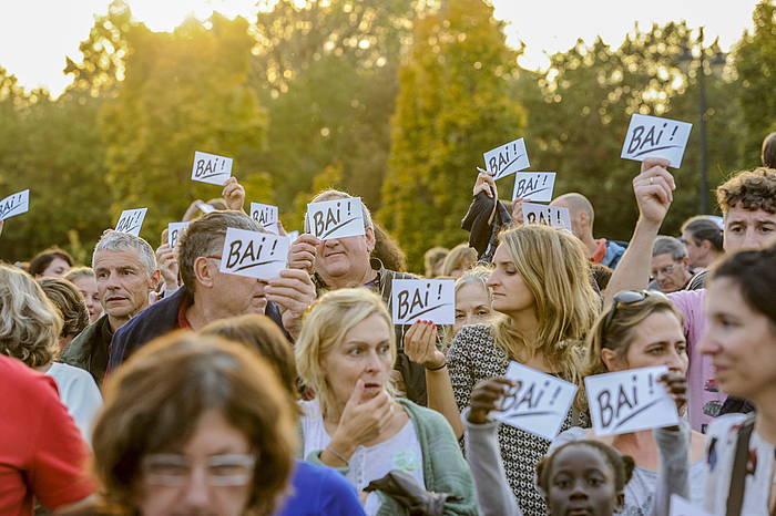
<svg viewBox="0 0 776 516">
<path fill-rule="evenodd" d="M 584 379 L 596 435 L 661 429 L 678 423 L 676 403 L 657 379 L 665 365 L 595 374 Z"/>
</svg>

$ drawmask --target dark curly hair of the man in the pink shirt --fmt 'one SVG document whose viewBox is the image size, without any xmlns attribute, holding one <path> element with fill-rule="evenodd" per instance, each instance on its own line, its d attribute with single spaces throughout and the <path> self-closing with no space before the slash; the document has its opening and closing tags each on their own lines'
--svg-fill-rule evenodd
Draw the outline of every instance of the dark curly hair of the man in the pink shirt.
<svg viewBox="0 0 776 516">
<path fill-rule="evenodd" d="M 776 169 L 758 167 L 739 172 L 717 187 L 722 213 L 741 204 L 749 211 L 776 214 Z"/>
</svg>

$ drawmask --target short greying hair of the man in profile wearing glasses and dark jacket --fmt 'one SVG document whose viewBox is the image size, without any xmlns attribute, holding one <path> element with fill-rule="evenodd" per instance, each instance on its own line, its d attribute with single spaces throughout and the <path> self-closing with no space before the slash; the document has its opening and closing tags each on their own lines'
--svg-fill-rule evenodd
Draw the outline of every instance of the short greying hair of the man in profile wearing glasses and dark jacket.
<svg viewBox="0 0 776 516">
<path fill-rule="evenodd" d="M 261 224 L 243 211 L 212 211 L 193 220 L 178 239 L 177 265 L 183 285 L 191 293 L 196 289 L 194 261 L 201 256 L 221 257 L 227 228 L 267 233 Z"/>
</svg>

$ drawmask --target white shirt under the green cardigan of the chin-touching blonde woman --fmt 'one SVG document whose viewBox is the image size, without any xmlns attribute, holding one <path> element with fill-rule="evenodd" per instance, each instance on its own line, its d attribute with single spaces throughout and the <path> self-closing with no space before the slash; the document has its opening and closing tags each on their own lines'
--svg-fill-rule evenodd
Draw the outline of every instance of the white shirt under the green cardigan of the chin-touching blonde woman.
<svg viewBox="0 0 776 516">
<path fill-rule="evenodd" d="M 316 400 L 302 402 L 304 416 L 304 456 L 320 452 L 331 442 L 324 426 L 324 417 Z M 349 461 L 347 479 L 360 493 L 371 481 L 382 478 L 392 469 L 401 469 L 412 476 L 418 485 L 426 488 L 423 482 L 423 454 L 411 421 L 392 437 L 372 446 L 358 446 Z M 376 493 L 369 493 L 364 507 L 368 515 L 375 515 L 380 508 Z"/>
</svg>

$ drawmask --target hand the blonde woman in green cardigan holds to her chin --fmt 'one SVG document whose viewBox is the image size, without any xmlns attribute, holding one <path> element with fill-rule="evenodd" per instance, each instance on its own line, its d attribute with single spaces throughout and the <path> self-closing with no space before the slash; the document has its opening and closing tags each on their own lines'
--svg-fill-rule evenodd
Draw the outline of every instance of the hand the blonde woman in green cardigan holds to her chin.
<svg viewBox="0 0 776 516">
<path fill-rule="evenodd" d="M 364 380 L 358 379 L 330 445 L 349 458 L 356 447 L 374 441 L 388 427 L 394 407 L 395 402 L 385 389 L 370 398 Z"/>
</svg>

